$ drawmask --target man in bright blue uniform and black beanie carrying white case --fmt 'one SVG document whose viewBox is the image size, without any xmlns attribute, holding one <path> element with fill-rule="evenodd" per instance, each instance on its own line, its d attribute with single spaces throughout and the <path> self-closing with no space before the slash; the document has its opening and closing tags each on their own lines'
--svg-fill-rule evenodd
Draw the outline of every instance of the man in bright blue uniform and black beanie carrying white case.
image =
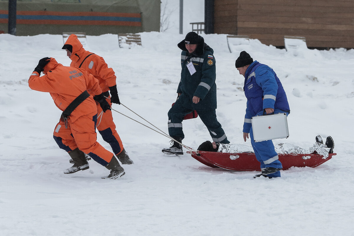
<svg viewBox="0 0 354 236">
<path fill-rule="evenodd" d="M 261 163 L 262 173 L 256 175 L 269 178 L 280 177 L 282 165 L 275 152 L 272 140 L 255 142 L 251 117 L 285 113 L 289 115 L 290 108 L 284 88 L 274 70 L 268 65 L 253 61 L 250 54 L 242 51 L 236 59 L 235 67 L 240 75 L 245 77 L 244 92 L 247 98 L 243 138 L 251 138 L 251 145 L 257 160 Z"/>
</svg>

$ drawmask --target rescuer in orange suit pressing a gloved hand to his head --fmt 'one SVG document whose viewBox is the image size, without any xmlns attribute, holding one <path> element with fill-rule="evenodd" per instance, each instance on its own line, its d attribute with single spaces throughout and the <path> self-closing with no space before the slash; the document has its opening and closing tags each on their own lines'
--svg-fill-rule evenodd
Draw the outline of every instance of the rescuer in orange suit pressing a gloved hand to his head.
<svg viewBox="0 0 354 236">
<path fill-rule="evenodd" d="M 41 71 L 44 76 L 40 76 Z M 54 131 L 61 138 L 54 138 L 74 161 L 65 174 L 89 168 L 84 153 L 110 170 L 105 178 L 116 179 L 125 174 L 113 153 L 97 142 L 97 106 L 87 90 L 95 94 L 103 111 L 110 110 L 97 79 L 83 69 L 64 67 L 54 58 L 45 57 L 39 60 L 28 85 L 32 90 L 49 92 L 56 106 L 63 111 Z"/>
</svg>

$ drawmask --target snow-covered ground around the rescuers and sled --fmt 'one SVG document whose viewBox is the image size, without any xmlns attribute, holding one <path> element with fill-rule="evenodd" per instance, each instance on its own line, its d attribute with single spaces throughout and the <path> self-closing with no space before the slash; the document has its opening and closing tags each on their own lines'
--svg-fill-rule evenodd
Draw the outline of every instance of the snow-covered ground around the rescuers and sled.
<svg viewBox="0 0 354 236">
<path fill-rule="evenodd" d="M 167 111 L 180 79 L 177 32 L 141 33 L 142 47 L 119 48 L 117 35 L 87 36 L 87 50 L 117 75 L 121 102 L 167 132 Z M 316 168 L 292 167 L 281 178 L 210 168 L 189 154 L 167 156 L 169 139 L 113 112 L 117 131 L 135 162 L 116 180 L 90 161 L 90 169 L 64 174 L 69 155 L 52 132 L 61 111 L 50 95 L 32 91 L 38 60 L 69 65 L 61 35 L 0 34 L 0 235 L 354 235 L 354 50 L 300 50 L 261 44 L 234 47 L 226 35 L 203 35 L 217 67 L 217 116 L 232 143 L 245 144 L 244 78 L 234 67 L 239 52 L 268 64 L 287 93 L 289 142 L 308 147 L 332 136 L 336 156 Z M 128 109 L 113 108 L 142 121 Z M 199 118 L 183 122 L 183 143 L 211 140 Z M 108 150 L 98 134 L 98 141 Z M 247 145 L 250 141 L 247 140 Z M 352 223 L 350 223 L 352 222 Z"/>
</svg>

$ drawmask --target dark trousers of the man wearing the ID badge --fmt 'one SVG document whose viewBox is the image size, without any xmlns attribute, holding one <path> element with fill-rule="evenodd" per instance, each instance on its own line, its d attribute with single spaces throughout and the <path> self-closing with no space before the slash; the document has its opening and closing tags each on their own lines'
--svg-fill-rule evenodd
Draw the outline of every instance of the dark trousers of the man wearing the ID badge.
<svg viewBox="0 0 354 236">
<path fill-rule="evenodd" d="M 168 112 L 169 121 L 167 123 L 169 128 L 169 135 L 171 137 L 181 137 L 184 138 L 184 133 L 182 129 L 183 117 L 192 112 L 193 110 L 183 107 L 181 99 L 172 106 Z M 212 110 L 197 110 L 198 116 L 208 129 L 212 140 L 216 143 L 230 143 L 227 140 L 226 134 L 221 127 L 221 124 L 216 119 L 216 111 Z"/>
</svg>

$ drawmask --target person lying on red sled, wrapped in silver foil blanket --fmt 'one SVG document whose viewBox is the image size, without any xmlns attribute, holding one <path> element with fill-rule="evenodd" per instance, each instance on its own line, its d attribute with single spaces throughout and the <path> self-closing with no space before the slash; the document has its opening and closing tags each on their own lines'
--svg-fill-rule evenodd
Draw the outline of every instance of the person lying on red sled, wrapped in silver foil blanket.
<svg viewBox="0 0 354 236">
<path fill-rule="evenodd" d="M 278 154 L 319 154 L 328 157 L 329 153 L 333 153 L 334 142 L 331 136 L 326 138 L 326 143 L 323 144 L 321 136 L 316 136 L 316 142 L 312 147 L 307 149 L 290 143 L 280 143 L 276 145 L 275 151 Z M 254 153 L 251 146 L 242 144 L 221 144 L 210 141 L 205 141 L 198 147 L 199 151 L 227 152 L 227 153 Z"/>
</svg>

